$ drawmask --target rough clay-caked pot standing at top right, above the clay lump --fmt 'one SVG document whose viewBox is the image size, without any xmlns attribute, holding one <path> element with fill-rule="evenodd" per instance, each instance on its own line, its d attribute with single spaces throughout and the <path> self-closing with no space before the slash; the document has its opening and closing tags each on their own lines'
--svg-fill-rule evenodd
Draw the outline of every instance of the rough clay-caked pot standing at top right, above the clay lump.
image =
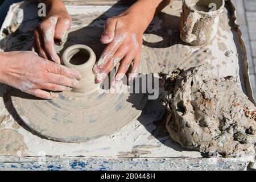
<svg viewBox="0 0 256 182">
<path fill-rule="evenodd" d="M 180 38 L 192 46 L 208 44 L 217 33 L 224 0 L 183 0 Z"/>
</svg>

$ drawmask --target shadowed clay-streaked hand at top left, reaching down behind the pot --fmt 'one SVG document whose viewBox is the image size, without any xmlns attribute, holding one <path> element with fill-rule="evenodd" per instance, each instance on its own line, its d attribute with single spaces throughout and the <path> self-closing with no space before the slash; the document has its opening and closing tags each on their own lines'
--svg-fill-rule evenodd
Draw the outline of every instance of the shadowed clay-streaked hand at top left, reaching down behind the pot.
<svg viewBox="0 0 256 182">
<path fill-rule="evenodd" d="M 71 27 L 71 16 L 61 1 L 53 1 L 46 18 L 35 30 L 35 40 L 32 51 L 37 50 L 39 56 L 44 59 L 55 61 L 60 64 L 60 57 L 57 55 L 54 43 L 61 45 L 65 32 Z"/>
</svg>

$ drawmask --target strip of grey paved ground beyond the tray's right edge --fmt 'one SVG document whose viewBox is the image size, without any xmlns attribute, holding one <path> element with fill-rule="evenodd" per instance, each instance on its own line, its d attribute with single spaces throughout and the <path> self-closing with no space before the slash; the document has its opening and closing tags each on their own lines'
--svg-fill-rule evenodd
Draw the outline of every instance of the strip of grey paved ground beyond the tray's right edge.
<svg viewBox="0 0 256 182">
<path fill-rule="evenodd" d="M 237 24 L 240 25 L 250 67 L 250 81 L 256 100 L 256 1 L 232 0 L 236 6 Z"/>
</svg>

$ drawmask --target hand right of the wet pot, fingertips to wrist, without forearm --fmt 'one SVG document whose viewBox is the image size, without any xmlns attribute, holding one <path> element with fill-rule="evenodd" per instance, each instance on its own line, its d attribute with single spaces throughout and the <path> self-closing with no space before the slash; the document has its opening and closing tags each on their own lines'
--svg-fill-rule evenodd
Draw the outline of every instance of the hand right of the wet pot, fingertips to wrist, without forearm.
<svg viewBox="0 0 256 182">
<path fill-rule="evenodd" d="M 142 36 L 144 29 L 140 27 L 142 19 L 136 14 L 123 13 L 105 22 L 105 31 L 101 42 L 108 44 L 94 66 L 96 81 L 102 82 L 108 73 L 119 64 L 112 86 L 121 82 L 131 65 L 129 82 L 136 76 L 141 60 Z"/>
</svg>

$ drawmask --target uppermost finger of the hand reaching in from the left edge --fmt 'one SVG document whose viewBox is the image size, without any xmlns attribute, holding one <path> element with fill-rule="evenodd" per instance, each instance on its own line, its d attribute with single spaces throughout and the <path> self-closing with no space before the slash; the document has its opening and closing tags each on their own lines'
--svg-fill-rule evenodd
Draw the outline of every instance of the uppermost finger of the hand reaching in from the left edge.
<svg viewBox="0 0 256 182">
<path fill-rule="evenodd" d="M 55 73 L 57 75 L 63 75 L 68 78 L 81 80 L 81 73 L 79 73 L 75 69 L 65 67 L 64 65 L 59 65 L 59 64 L 49 62 L 47 64 L 47 70 L 50 73 Z"/>
</svg>

